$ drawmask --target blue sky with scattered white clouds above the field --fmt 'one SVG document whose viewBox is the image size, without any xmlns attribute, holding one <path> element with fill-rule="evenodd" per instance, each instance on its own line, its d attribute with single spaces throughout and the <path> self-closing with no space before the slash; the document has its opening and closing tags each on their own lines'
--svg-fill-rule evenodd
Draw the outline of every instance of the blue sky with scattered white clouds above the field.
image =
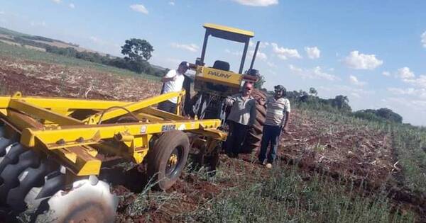
<svg viewBox="0 0 426 223">
<path fill-rule="evenodd" d="M 1 1 L 0 26 L 111 55 L 126 39 L 146 39 L 151 62 L 170 68 L 200 57 L 203 23 L 252 30 L 266 88 L 315 87 L 323 98 L 348 96 L 354 110 L 391 108 L 426 125 L 425 9 L 426 1 L 386 0 L 14 0 Z M 238 70 L 242 45 L 209 43 L 207 62 Z"/>
</svg>

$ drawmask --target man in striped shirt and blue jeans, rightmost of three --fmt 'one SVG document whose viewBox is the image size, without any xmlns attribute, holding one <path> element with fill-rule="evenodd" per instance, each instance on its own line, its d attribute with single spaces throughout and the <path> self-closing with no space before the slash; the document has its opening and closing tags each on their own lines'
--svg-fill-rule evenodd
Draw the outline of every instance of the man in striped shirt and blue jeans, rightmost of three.
<svg viewBox="0 0 426 223">
<path fill-rule="evenodd" d="M 266 101 L 266 121 L 265 125 L 263 125 L 261 151 L 258 156 L 261 164 L 266 165 L 267 168 L 272 167 L 277 153 L 280 133 L 287 132 L 287 123 L 290 118 L 290 101 L 283 97 L 285 88 L 282 85 L 277 85 L 274 88 L 274 96 L 268 98 Z M 266 151 L 270 143 L 271 149 L 269 150 L 268 157 L 266 157 Z"/>
</svg>

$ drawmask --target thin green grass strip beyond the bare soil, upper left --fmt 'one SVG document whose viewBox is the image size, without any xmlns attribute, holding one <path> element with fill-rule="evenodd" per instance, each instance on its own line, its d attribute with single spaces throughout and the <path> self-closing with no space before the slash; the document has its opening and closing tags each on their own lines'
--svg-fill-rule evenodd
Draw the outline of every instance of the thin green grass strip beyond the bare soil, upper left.
<svg viewBox="0 0 426 223">
<path fill-rule="evenodd" d="M 0 55 L 4 57 L 12 57 L 18 59 L 28 59 L 37 62 L 46 62 L 50 64 L 62 64 L 68 67 L 82 67 L 87 69 L 95 69 L 99 72 L 109 72 L 113 74 L 125 75 L 125 76 L 140 76 L 143 79 L 159 80 L 158 76 L 148 74 L 137 74 L 126 69 L 119 69 L 116 67 L 107 66 L 104 64 L 97 64 L 87 62 L 83 59 L 77 59 L 72 57 L 65 57 L 62 55 L 55 55 L 50 52 L 41 52 L 39 50 L 27 49 L 25 47 L 18 47 L 0 42 Z"/>
</svg>

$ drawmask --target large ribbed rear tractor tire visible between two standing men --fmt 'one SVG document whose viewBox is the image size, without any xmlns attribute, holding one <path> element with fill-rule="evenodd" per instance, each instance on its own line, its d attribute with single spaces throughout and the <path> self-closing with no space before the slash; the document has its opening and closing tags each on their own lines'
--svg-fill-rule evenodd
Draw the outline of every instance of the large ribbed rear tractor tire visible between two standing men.
<svg viewBox="0 0 426 223">
<path fill-rule="evenodd" d="M 246 136 L 241 151 L 246 154 L 251 154 L 253 150 L 261 147 L 263 125 L 265 125 L 266 120 L 266 106 L 261 104 L 262 101 L 266 101 L 266 94 L 258 89 L 253 89 L 251 96 L 256 100 L 256 120 Z"/>
</svg>

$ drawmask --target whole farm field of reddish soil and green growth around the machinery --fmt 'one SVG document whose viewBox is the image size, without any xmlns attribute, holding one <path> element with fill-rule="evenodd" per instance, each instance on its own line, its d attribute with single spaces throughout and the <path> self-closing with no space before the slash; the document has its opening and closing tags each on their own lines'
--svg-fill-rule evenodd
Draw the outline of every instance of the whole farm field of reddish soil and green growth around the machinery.
<svg viewBox="0 0 426 223">
<path fill-rule="evenodd" d="M 160 88 L 152 76 L 0 42 L 1 95 L 138 101 Z M 297 106 L 292 113 L 271 170 L 256 163 L 257 151 L 221 154 L 215 176 L 188 167 L 162 193 L 136 166 L 104 171 L 120 197 L 117 222 L 426 221 L 424 128 Z"/>
</svg>

